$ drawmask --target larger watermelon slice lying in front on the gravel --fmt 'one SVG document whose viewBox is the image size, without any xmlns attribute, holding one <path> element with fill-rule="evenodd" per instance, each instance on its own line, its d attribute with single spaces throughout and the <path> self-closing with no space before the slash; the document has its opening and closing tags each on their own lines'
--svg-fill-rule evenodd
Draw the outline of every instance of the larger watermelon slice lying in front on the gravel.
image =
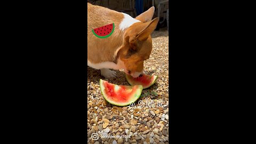
<svg viewBox="0 0 256 144">
<path fill-rule="evenodd" d="M 116 106 L 127 106 L 137 101 L 142 92 L 142 85 L 115 85 L 100 79 L 100 90 L 103 98 Z"/>
</svg>

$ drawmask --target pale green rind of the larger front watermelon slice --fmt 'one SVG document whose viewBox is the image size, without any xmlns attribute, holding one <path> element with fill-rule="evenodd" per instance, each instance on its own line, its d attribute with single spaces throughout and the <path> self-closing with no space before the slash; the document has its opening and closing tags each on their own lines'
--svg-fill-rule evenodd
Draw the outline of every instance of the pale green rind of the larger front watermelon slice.
<svg viewBox="0 0 256 144">
<path fill-rule="evenodd" d="M 100 79 L 100 91 L 101 94 L 103 95 L 103 98 L 108 101 L 109 103 L 111 103 L 112 105 L 116 105 L 116 106 L 127 106 L 130 105 L 131 103 L 137 101 L 140 98 L 141 92 L 143 90 L 143 86 L 142 85 L 135 85 L 138 86 L 136 92 L 134 95 L 131 95 L 132 99 L 130 99 L 129 102 L 118 102 L 118 101 L 111 101 L 110 99 L 107 98 L 107 94 L 105 93 L 105 86 L 103 84 L 104 80 Z M 127 87 L 127 89 L 132 89 L 134 86 L 125 86 Z"/>
</svg>

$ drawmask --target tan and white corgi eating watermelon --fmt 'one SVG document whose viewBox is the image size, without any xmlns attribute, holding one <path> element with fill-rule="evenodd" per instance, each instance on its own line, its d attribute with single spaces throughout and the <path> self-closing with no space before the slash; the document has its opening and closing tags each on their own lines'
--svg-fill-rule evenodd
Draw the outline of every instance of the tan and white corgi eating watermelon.
<svg viewBox="0 0 256 144">
<path fill-rule="evenodd" d="M 87 66 L 100 69 L 105 78 L 115 77 L 110 69 L 123 69 L 127 75 L 143 74 L 143 62 L 152 51 L 150 34 L 159 18 L 153 18 L 155 7 L 132 18 L 126 13 L 87 3 Z M 99 38 L 93 29 L 113 23 L 113 33 Z"/>
</svg>

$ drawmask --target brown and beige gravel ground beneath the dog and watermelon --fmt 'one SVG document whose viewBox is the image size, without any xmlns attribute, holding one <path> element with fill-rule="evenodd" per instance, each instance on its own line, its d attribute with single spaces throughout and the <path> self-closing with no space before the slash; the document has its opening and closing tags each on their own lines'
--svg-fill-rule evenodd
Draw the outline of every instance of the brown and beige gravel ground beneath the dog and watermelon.
<svg viewBox="0 0 256 144">
<path fill-rule="evenodd" d="M 88 68 L 87 75 L 87 134 L 88 143 L 168 143 L 169 137 L 169 63 L 168 31 L 154 31 L 153 51 L 145 61 L 144 73 L 157 75 L 157 82 L 143 90 L 143 103 L 154 100 L 155 107 L 143 105 L 135 107 L 117 107 L 111 105 L 100 93 L 99 80 L 104 79 L 118 85 L 129 85 L 122 71 L 117 77 L 106 79 L 100 76 L 100 70 Z M 157 106 L 157 101 L 162 102 Z M 162 105 L 161 105 L 162 104 Z M 92 133 L 98 133 L 99 139 L 92 140 Z M 123 138 L 100 138 L 102 135 L 121 135 Z"/>
</svg>

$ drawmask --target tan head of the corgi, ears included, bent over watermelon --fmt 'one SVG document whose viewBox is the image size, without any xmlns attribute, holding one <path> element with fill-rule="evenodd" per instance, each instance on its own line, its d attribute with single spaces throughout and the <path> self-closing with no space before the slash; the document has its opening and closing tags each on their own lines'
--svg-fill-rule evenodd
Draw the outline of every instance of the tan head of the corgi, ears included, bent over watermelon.
<svg viewBox="0 0 256 144">
<path fill-rule="evenodd" d="M 119 58 L 124 63 L 124 71 L 132 77 L 143 74 L 143 62 L 149 59 L 152 51 L 152 39 L 150 34 L 155 30 L 158 18 L 153 18 L 155 8 L 140 14 L 135 19 L 136 22 L 126 29 L 124 34 L 124 44 L 119 51 Z"/>
</svg>

